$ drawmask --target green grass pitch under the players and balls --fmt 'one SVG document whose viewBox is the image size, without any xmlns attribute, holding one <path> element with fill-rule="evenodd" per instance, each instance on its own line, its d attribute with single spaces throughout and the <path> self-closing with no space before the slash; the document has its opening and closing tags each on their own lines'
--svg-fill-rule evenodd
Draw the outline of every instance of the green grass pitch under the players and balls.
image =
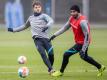
<svg viewBox="0 0 107 80">
<path fill-rule="evenodd" d="M 56 30 L 54 30 L 55 32 Z M 107 66 L 107 29 L 93 29 L 89 55 Z M 60 69 L 63 53 L 74 45 L 73 35 L 69 31 L 52 41 L 55 52 L 54 68 Z M 27 63 L 20 65 L 17 58 L 27 57 Z M 107 71 L 98 78 L 97 69 L 84 62 L 76 54 L 70 58 L 64 76 L 54 78 L 48 75 L 47 68 L 37 52 L 29 30 L 20 33 L 0 31 L 0 80 L 22 80 L 17 74 L 21 66 L 30 69 L 30 75 L 23 80 L 107 80 Z"/>
</svg>

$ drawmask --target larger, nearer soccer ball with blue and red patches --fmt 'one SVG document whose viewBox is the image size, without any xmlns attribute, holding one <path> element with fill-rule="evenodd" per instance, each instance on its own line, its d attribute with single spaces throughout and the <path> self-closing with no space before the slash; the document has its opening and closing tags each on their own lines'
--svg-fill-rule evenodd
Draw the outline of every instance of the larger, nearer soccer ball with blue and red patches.
<svg viewBox="0 0 107 80">
<path fill-rule="evenodd" d="M 27 67 L 20 67 L 18 69 L 18 75 L 21 77 L 21 78 L 25 78 L 29 75 L 29 69 Z"/>
</svg>

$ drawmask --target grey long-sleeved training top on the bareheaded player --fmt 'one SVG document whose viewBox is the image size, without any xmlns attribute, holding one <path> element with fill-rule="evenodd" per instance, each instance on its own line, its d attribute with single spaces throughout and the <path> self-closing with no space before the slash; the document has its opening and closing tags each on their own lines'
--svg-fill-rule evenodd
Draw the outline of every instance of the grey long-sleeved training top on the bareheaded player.
<svg viewBox="0 0 107 80">
<path fill-rule="evenodd" d="M 42 30 L 46 27 L 52 26 L 54 23 L 53 19 L 49 17 L 47 14 L 42 13 L 39 16 L 30 16 L 26 23 L 17 28 L 13 28 L 13 32 L 19 32 L 25 30 L 26 28 L 31 28 L 32 37 L 38 38 L 49 38 L 47 31 L 42 32 Z"/>
</svg>

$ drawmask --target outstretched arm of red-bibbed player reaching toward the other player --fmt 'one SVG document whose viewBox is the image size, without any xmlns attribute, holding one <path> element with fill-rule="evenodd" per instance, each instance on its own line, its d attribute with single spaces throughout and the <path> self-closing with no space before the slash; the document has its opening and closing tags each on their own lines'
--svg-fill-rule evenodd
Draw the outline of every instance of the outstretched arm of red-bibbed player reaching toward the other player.
<svg viewBox="0 0 107 80">
<path fill-rule="evenodd" d="M 51 36 L 50 41 L 53 40 L 56 36 L 59 36 L 60 34 L 67 31 L 69 28 L 70 28 L 70 24 L 68 21 L 61 29 L 59 29 L 57 32 L 55 32 L 53 36 Z"/>
</svg>

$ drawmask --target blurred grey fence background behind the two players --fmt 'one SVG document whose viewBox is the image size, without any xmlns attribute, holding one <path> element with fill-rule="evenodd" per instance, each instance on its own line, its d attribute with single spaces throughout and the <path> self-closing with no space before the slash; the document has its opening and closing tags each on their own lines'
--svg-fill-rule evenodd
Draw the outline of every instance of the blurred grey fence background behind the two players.
<svg viewBox="0 0 107 80">
<path fill-rule="evenodd" d="M 0 0 L 0 23 L 4 24 L 5 4 L 9 0 Z M 73 4 L 78 4 L 83 12 L 83 1 L 88 3 L 88 17 L 91 23 L 107 22 L 107 0 L 41 0 L 44 12 L 47 12 L 46 4 L 50 2 L 51 16 L 56 22 L 65 22 L 69 17 L 69 8 Z M 24 9 L 24 20 L 32 13 L 32 0 L 21 0 Z"/>
</svg>

